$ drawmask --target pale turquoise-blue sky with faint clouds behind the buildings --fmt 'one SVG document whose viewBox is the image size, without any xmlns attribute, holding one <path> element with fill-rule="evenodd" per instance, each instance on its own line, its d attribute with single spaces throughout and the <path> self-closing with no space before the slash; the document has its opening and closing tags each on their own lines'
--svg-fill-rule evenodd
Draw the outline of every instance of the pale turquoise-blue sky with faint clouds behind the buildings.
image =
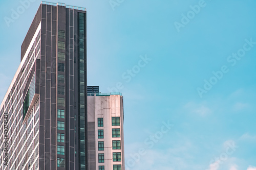
<svg viewBox="0 0 256 170">
<path fill-rule="evenodd" d="M 0 0 L 0 101 L 40 4 L 13 18 L 24 1 Z M 88 85 L 122 92 L 126 170 L 256 169 L 255 1 L 61 3 L 87 8 Z"/>
</svg>

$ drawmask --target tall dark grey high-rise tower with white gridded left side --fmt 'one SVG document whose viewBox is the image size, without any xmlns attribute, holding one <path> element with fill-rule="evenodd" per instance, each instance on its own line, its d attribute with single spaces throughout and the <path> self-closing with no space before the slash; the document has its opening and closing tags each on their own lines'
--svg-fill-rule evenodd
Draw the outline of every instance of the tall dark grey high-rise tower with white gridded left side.
<svg viewBox="0 0 256 170">
<path fill-rule="evenodd" d="M 0 108 L 0 169 L 88 169 L 86 87 L 86 9 L 41 3 Z"/>
</svg>

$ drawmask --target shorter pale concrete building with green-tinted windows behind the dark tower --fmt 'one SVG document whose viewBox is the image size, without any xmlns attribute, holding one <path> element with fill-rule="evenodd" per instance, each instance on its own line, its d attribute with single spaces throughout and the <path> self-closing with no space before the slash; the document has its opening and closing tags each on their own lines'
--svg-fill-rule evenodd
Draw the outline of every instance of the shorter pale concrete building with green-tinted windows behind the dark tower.
<svg viewBox="0 0 256 170">
<path fill-rule="evenodd" d="M 89 170 L 124 170 L 123 96 L 119 92 L 88 96 L 88 159 Z"/>
</svg>

